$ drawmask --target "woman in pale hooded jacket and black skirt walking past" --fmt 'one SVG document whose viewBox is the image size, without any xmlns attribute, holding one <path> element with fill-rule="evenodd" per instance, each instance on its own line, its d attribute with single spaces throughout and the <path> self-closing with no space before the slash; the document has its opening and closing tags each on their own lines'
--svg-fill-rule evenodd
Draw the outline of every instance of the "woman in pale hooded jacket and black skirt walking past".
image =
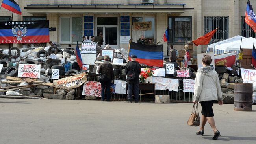
<svg viewBox="0 0 256 144">
<path fill-rule="evenodd" d="M 202 58 L 203 67 L 197 71 L 195 78 L 194 103 L 199 102 L 202 106 L 201 126 L 196 134 L 204 135 L 204 126 L 208 121 L 214 132 L 212 139 L 217 140 L 221 134 L 215 126 L 212 106 L 216 100 L 219 105 L 222 105 L 223 101 L 219 77 L 214 68 L 210 66 L 211 61 L 212 59 L 209 55 L 205 55 Z"/>
</svg>

